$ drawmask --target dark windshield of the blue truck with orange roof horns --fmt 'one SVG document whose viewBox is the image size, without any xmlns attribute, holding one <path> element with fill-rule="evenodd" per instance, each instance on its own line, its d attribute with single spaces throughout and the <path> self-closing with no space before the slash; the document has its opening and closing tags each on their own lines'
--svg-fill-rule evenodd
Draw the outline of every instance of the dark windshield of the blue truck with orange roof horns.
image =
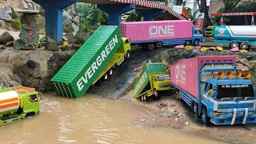
<svg viewBox="0 0 256 144">
<path fill-rule="evenodd" d="M 252 85 L 219 85 L 218 96 L 220 98 L 245 98 L 254 97 Z"/>
</svg>

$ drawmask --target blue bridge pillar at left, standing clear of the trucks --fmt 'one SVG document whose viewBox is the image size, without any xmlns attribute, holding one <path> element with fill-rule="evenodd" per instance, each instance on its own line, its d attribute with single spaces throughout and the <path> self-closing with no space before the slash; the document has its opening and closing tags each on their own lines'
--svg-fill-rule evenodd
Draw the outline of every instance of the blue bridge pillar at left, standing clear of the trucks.
<svg viewBox="0 0 256 144">
<path fill-rule="evenodd" d="M 54 39 L 56 42 L 62 42 L 63 24 L 62 10 L 72 5 L 77 0 L 33 0 L 45 9 L 46 17 L 46 36 Z"/>
</svg>

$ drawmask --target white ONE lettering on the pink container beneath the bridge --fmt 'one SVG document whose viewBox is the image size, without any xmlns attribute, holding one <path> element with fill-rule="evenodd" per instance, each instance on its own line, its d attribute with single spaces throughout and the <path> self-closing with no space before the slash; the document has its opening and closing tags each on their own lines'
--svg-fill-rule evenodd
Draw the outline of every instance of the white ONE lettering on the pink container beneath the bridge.
<svg viewBox="0 0 256 144">
<path fill-rule="evenodd" d="M 150 38 L 164 38 L 174 36 L 174 25 L 150 26 Z"/>
</svg>

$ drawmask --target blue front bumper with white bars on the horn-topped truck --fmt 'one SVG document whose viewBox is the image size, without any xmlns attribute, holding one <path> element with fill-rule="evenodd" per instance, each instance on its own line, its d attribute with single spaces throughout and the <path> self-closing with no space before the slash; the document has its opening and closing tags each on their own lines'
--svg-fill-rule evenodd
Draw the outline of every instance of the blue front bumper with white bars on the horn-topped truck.
<svg viewBox="0 0 256 144">
<path fill-rule="evenodd" d="M 249 108 L 238 108 L 225 110 L 222 113 L 214 113 L 210 122 L 215 125 L 234 125 L 256 123 L 256 110 Z"/>
</svg>

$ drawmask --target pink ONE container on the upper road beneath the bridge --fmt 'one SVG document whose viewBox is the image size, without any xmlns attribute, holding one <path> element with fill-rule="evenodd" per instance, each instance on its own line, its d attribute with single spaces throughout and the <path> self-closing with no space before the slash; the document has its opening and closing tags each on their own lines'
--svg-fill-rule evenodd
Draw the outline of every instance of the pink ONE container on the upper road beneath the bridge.
<svg viewBox="0 0 256 144">
<path fill-rule="evenodd" d="M 130 42 L 192 38 L 193 22 L 186 20 L 154 22 L 122 22 L 122 37 Z"/>
</svg>

